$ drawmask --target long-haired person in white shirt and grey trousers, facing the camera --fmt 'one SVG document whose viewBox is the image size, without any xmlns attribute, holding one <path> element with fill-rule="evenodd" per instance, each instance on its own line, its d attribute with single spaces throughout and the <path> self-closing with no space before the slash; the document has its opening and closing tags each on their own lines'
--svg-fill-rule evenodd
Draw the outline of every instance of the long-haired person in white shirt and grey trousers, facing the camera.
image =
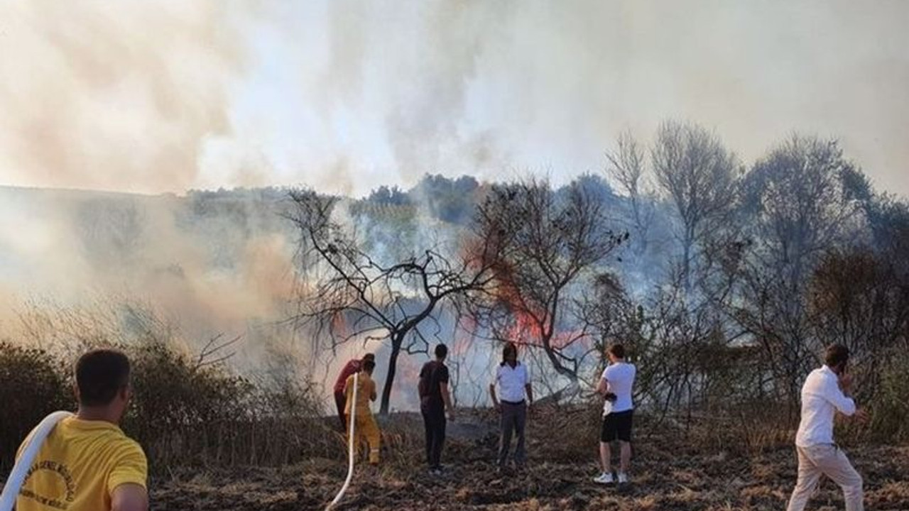
<svg viewBox="0 0 909 511">
<path fill-rule="evenodd" d="M 495 389 L 498 387 L 498 396 Z M 524 400 L 524 393 L 527 399 Z M 493 404 L 502 414 L 502 434 L 499 437 L 499 470 L 505 466 L 511 447 L 512 433 L 517 435 L 514 448 L 514 465 L 523 468 L 527 461 L 524 452 L 524 426 L 527 422 L 527 406 L 534 404 L 534 392 L 530 386 L 527 367 L 517 361 L 517 346 L 508 343 L 502 350 L 502 364 L 495 368 L 495 379 L 489 385 Z"/>
</svg>

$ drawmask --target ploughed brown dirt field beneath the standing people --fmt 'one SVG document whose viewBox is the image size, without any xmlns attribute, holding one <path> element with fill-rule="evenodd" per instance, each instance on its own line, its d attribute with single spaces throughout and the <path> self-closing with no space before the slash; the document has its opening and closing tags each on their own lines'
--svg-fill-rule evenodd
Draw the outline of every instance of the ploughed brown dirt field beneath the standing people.
<svg viewBox="0 0 909 511">
<path fill-rule="evenodd" d="M 549 416 L 557 416 L 550 414 Z M 589 416 L 589 415 L 581 415 Z M 578 417 L 574 414 L 575 420 Z M 382 466 L 358 466 L 337 509 L 611 509 L 780 510 L 795 481 L 794 448 L 785 444 L 759 455 L 722 449 L 698 452 L 683 431 L 644 424 L 636 432 L 632 483 L 599 486 L 595 429 L 572 421 L 532 423 L 528 468 L 499 475 L 494 416 L 489 411 L 450 424 L 443 476 L 430 476 L 421 461 L 418 416 L 395 416 L 385 424 Z M 534 420 L 534 417 L 531 417 Z M 586 438 L 590 436 L 589 438 Z M 589 448 L 585 448 L 589 446 Z M 847 448 L 864 476 L 865 508 L 909 510 L 909 447 Z M 282 468 L 181 471 L 153 482 L 156 510 L 324 509 L 342 485 L 342 459 L 315 459 Z M 843 508 L 839 488 L 824 481 L 810 504 L 815 510 Z"/>
</svg>

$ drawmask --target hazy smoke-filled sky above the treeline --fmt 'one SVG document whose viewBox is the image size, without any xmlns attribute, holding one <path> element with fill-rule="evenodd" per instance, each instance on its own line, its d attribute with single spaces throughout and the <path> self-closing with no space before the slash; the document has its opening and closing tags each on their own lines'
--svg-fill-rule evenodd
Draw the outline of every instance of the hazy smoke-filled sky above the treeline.
<svg viewBox="0 0 909 511">
<path fill-rule="evenodd" d="M 7 0 L 0 185 L 557 182 L 624 128 L 841 139 L 909 195 L 909 2 Z"/>
</svg>

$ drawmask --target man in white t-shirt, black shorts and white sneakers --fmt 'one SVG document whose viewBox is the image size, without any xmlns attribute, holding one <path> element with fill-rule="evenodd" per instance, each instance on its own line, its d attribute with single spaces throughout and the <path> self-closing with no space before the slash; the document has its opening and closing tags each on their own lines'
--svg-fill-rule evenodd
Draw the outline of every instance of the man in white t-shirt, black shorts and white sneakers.
<svg viewBox="0 0 909 511">
<path fill-rule="evenodd" d="M 618 440 L 621 446 L 618 483 L 625 484 L 628 482 L 628 466 L 631 464 L 631 429 L 634 414 L 631 390 L 637 369 L 634 364 L 625 362 L 622 345 L 609 346 L 606 356 L 610 364 L 603 371 L 600 384 L 596 387 L 596 392 L 605 397 L 603 427 L 600 430 L 600 463 L 603 465 L 603 473 L 594 477 L 594 482 L 603 485 L 614 482 L 610 443 Z"/>
</svg>

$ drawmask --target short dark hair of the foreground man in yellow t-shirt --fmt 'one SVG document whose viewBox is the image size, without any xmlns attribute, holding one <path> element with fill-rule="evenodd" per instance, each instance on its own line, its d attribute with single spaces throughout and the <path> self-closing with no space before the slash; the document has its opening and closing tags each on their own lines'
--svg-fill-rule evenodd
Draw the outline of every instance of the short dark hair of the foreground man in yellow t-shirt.
<svg viewBox="0 0 909 511">
<path fill-rule="evenodd" d="M 109 405 L 129 385 L 129 358 L 114 349 L 89 351 L 75 363 L 75 385 L 80 405 Z"/>
</svg>

